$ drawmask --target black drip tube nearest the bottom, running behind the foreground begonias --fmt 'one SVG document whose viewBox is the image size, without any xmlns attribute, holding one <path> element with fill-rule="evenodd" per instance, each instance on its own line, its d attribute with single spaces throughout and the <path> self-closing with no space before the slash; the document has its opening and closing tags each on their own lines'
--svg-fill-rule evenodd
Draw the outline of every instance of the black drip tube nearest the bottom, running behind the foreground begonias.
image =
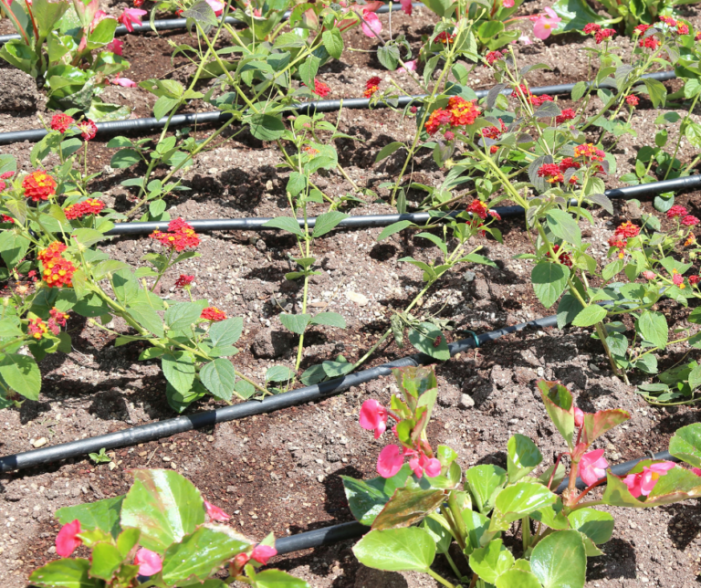
<svg viewBox="0 0 701 588">
<path fill-rule="evenodd" d="M 614 476 L 624 476 L 633 467 L 637 466 L 643 459 L 665 459 L 667 461 L 679 461 L 676 457 L 669 454 L 668 451 L 663 451 L 661 453 L 656 453 L 653 456 L 638 457 L 632 459 L 631 461 L 623 462 L 623 464 L 617 464 L 610 468 L 611 473 Z M 577 488 L 583 490 L 587 488 L 587 485 L 577 478 Z M 563 481 L 560 486 L 555 490 L 557 494 L 560 494 L 565 488 L 567 488 L 567 481 Z M 325 545 L 333 545 L 334 543 L 339 543 L 340 541 L 348 541 L 351 539 L 360 539 L 365 533 L 370 531 L 370 527 L 362 525 L 360 522 L 343 522 L 340 525 L 331 525 L 330 527 L 324 527 L 323 529 L 308 530 L 303 533 L 298 533 L 292 535 L 291 537 L 281 537 L 275 541 L 275 549 L 277 550 L 277 555 L 285 555 L 291 553 L 292 551 L 301 551 L 312 549 L 314 547 L 323 547 Z"/>
</svg>

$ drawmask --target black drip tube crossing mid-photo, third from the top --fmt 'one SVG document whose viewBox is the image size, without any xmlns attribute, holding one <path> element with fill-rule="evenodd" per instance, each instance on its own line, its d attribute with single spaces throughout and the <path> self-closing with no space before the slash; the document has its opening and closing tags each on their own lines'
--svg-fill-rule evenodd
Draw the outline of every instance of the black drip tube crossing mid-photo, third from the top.
<svg viewBox="0 0 701 588">
<path fill-rule="evenodd" d="M 636 197 L 646 197 L 653 194 L 661 194 L 664 192 L 682 192 L 691 190 L 701 186 L 701 175 L 689 175 L 684 178 L 675 178 L 674 180 L 663 180 L 661 182 L 651 182 L 650 184 L 639 184 L 626 186 L 623 188 L 614 188 L 607 190 L 606 194 L 609 198 L 630 199 Z M 521 206 L 497 206 L 493 209 L 502 218 L 511 216 L 523 215 L 524 210 Z M 441 220 L 443 218 L 452 218 L 457 215 L 457 212 L 448 213 L 445 216 L 432 216 L 428 213 L 404 213 L 403 215 L 360 215 L 349 216 L 340 221 L 338 228 L 371 228 L 376 226 L 389 226 L 399 221 L 410 221 L 417 225 L 427 223 L 430 220 Z M 207 220 L 189 220 L 187 223 L 191 225 L 198 233 L 209 233 L 211 231 L 269 231 L 277 230 L 274 227 L 265 226 L 271 218 L 213 218 Z M 304 226 L 304 219 L 298 218 L 299 226 Z M 170 221 L 153 221 L 148 223 L 115 223 L 105 235 L 108 236 L 135 236 L 148 235 L 155 230 L 165 230 L 168 228 Z M 311 216 L 307 219 L 309 228 L 316 225 L 316 216 Z"/>
</svg>

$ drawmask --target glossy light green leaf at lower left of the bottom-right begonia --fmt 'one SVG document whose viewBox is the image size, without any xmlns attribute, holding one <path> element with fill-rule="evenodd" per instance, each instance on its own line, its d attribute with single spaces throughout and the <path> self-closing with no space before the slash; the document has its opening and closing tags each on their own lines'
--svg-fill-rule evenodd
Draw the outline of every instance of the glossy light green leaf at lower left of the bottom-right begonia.
<svg viewBox="0 0 701 588">
<path fill-rule="evenodd" d="M 435 542 L 419 527 L 371 530 L 353 547 L 358 561 L 386 572 L 427 572 L 434 562 Z"/>
</svg>

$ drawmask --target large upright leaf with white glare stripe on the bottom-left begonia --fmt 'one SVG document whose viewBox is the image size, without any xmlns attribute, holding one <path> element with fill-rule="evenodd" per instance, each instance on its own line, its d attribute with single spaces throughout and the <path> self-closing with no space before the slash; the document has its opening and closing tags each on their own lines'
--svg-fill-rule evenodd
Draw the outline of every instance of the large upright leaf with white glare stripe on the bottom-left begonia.
<svg viewBox="0 0 701 588">
<path fill-rule="evenodd" d="M 204 500 L 189 480 L 167 469 L 133 469 L 121 525 L 141 530 L 139 543 L 162 553 L 204 522 Z"/>
</svg>

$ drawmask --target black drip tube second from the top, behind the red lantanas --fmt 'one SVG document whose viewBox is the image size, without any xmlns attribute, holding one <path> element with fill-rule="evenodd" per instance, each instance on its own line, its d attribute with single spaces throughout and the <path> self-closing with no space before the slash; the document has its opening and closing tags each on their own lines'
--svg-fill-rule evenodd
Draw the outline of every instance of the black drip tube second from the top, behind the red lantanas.
<svg viewBox="0 0 701 588">
<path fill-rule="evenodd" d="M 666 81 L 675 79 L 674 71 L 658 71 L 652 74 L 645 74 L 642 79 L 656 79 L 657 81 Z M 586 82 L 591 85 L 592 82 Z M 574 84 L 560 84 L 557 86 L 542 86 L 540 88 L 531 88 L 530 92 L 536 96 L 542 94 L 570 94 L 574 88 Z M 607 84 L 601 84 L 599 88 L 607 88 Z M 504 89 L 502 94 L 510 94 L 511 89 Z M 489 93 L 487 89 L 476 90 L 477 98 L 484 98 Z M 420 104 L 425 98 L 425 94 L 416 96 L 401 96 L 393 100 L 395 108 L 404 108 L 410 104 Z M 340 100 L 315 100 L 313 102 L 305 102 L 296 106 L 291 106 L 288 111 L 305 114 L 308 112 L 335 112 L 342 108 L 348 109 L 368 109 L 370 108 L 371 99 L 368 98 L 347 98 Z M 373 105 L 373 108 L 386 108 L 387 104 L 378 102 Z M 213 123 L 224 123 L 231 119 L 230 112 L 222 112 L 221 110 L 213 110 L 210 112 L 195 112 L 193 114 L 175 114 L 168 122 L 168 117 L 156 119 L 148 117 L 145 119 L 127 119 L 126 121 L 107 121 L 97 123 L 98 135 L 114 135 L 123 132 L 131 131 L 152 131 L 154 129 L 162 129 L 168 124 L 168 128 L 183 127 L 185 125 L 203 125 Z M 47 136 L 46 129 L 30 129 L 28 131 L 9 131 L 0 132 L 0 145 L 8 145 L 14 142 L 39 142 Z"/>
</svg>

